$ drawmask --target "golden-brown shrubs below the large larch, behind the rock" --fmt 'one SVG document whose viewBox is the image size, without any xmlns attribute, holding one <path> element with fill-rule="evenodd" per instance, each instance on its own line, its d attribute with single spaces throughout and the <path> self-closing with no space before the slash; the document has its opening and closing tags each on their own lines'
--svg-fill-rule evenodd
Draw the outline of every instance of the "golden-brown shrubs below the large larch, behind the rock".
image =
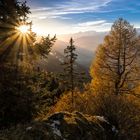
<svg viewBox="0 0 140 140">
<path fill-rule="evenodd" d="M 139 99 L 132 95 L 93 94 L 76 92 L 72 108 L 71 94 L 64 94 L 52 112 L 79 111 L 89 115 L 104 116 L 119 131 L 118 139 L 137 140 L 140 132 Z"/>
</svg>

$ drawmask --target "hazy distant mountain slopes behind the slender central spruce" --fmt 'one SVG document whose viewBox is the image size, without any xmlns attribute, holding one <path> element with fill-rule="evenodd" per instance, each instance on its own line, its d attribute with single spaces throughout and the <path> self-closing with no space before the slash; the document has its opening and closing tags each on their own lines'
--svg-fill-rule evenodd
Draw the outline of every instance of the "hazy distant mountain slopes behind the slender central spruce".
<svg viewBox="0 0 140 140">
<path fill-rule="evenodd" d="M 88 73 L 95 56 L 95 50 L 103 42 L 106 34 L 106 32 L 89 31 L 57 36 L 57 41 L 48 56 L 48 60 L 41 60 L 40 67 L 47 69 L 47 71 L 62 72 L 61 63 L 64 59 L 64 49 L 69 45 L 69 40 L 72 37 L 78 54 L 77 69 Z"/>
</svg>

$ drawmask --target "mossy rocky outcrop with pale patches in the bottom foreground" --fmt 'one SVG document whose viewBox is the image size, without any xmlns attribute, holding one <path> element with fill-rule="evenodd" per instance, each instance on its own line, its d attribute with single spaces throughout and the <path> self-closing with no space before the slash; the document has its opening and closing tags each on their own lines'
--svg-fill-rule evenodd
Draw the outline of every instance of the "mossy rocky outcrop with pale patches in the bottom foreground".
<svg viewBox="0 0 140 140">
<path fill-rule="evenodd" d="M 14 130 L 7 140 L 115 140 L 117 133 L 104 117 L 60 112 Z"/>
</svg>

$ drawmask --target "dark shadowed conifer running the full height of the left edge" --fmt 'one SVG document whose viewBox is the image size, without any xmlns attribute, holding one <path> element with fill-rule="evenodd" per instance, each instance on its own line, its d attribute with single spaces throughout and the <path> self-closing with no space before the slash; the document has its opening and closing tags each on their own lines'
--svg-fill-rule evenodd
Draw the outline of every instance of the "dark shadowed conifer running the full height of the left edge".
<svg viewBox="0 0 140 140">
<path fill-rule="evenodd" d="M 13 37 L 17 32 L 16 27 L 27 23 L 28 13 L 26 2 L 0 0 L 0 127 L 32 119 L 33 94 L 28 87 L 31 73 L 28 68 L 21 69 L 18 63 L 19 54 L 23 52 L 23 39 L 18 40 L 20 47 L 17 47 L 20 35 Z"/>
</svg>

